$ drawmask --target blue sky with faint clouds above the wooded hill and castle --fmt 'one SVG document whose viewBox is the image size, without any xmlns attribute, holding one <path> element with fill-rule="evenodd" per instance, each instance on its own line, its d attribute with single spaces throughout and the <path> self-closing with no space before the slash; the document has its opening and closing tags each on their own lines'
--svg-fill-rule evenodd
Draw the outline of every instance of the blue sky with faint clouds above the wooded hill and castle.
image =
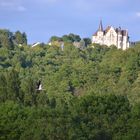
<svg viewBox="0 0 140 140">
<path fill-rule="evenodd" d="M 69 33 L 91 38 L 100 20 L 140 40 L 140 0 L 0 0 L 0 28 L 25 32 L 29 44 Z"/>
</svg>

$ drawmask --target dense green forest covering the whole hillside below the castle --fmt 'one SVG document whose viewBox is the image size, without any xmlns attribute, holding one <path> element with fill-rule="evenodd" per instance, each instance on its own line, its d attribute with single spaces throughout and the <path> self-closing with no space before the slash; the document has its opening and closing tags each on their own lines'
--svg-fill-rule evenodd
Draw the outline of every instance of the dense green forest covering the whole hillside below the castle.
<svg viewBox="0 0 140 140">
<path fill-rule="evenodd" d="M 26 33 L 0 30 L 0 140 L 139 140 L 140 43 L 50 40 L 31 47 Z"/>
</svg>

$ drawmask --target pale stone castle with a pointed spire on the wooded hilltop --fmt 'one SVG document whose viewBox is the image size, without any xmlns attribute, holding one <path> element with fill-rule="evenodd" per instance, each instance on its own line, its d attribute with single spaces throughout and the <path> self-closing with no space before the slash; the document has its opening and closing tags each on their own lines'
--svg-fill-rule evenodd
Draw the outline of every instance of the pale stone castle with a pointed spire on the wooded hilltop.
<svg viewBox="0 0 140 140">
<path fill-rule="evenodd" d="M 129 48 L 128 31 L 112 26 L 103 30 L 102 21 L 100 21 L 97 32 L 92 36 L 92 43 L 107 46 L 115 45 L 118 49 L 126 50 Z"/>
</svg>

